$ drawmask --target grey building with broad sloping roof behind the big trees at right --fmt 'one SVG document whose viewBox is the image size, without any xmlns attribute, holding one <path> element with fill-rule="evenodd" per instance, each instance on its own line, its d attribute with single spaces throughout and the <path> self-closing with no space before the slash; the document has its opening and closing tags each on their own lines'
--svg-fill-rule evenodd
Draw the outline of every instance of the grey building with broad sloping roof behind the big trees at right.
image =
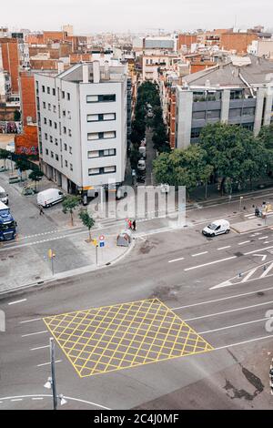
<svg viewBox="0 0 273 428">
<path fill-rule="evenodd" d="M 227 63 L 184 76 L 176 102 L 176 148 L 198 142 L 202 128 L 218 121 L 258 135 L 273 121 L 273 63 L 231 56 Z"/>
</svg>

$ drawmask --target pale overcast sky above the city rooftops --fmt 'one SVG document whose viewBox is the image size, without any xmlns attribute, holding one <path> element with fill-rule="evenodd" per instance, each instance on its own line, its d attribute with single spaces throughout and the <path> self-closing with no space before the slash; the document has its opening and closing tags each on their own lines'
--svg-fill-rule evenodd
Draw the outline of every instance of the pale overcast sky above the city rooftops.
<svg viewBox="0 0 273 428">
<path fill-rule="evenodd" d="M 0 26 L 38 30 L 74 25 L 75 34 L 151 32 L 150 28 L 273 27 L 272 0 L 13 0 L 0 5 Z M 2 4 L 2 2 L 1 2 Z M 9 6 L 10 5 L 10 6 Z"/>
</svg>

